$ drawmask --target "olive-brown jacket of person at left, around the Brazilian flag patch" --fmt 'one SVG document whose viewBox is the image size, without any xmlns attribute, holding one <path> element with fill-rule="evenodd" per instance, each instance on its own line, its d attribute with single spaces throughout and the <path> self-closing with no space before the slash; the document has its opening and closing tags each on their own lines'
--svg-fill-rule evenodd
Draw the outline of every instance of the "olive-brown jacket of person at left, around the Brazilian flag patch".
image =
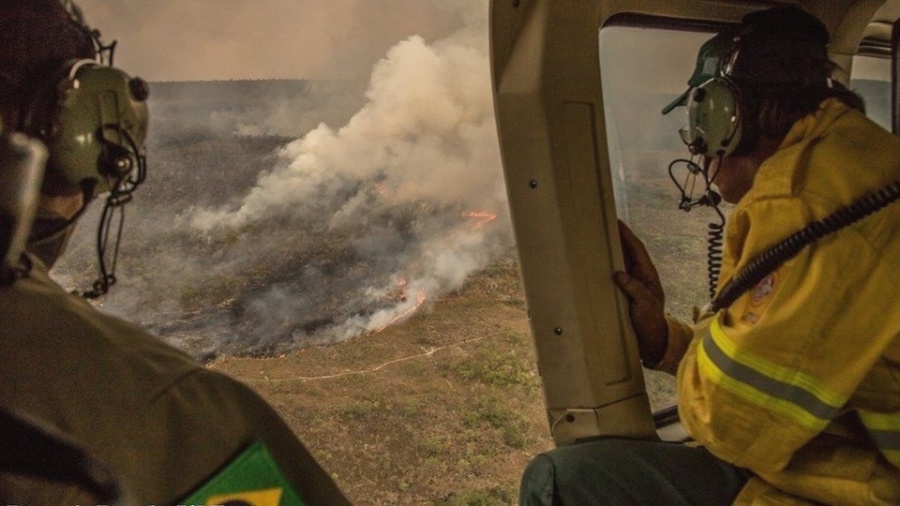
<svg viewBox="0 0 900 506">
<path fill-rule="evenodd" d="M 0 286 L 0 405 L 50 424 L 107 465 L 141 505 L 176 504 L 254 442 L 308 504 L 348 504 L 257 394 L 66 293 L 32 257 Z M 84 504 L 73 488 L 0 476 L 10 504 Z"/>
</svg>

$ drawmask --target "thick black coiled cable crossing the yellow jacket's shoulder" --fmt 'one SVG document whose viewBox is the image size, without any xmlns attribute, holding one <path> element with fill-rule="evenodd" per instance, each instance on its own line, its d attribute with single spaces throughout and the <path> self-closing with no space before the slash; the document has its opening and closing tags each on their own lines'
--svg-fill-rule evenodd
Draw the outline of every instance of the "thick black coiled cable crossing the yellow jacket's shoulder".
<svg viewBox="0 0 900 506">
<path fill-rule="evenodd" d="M 814 221 L 802 230 L 791 234 L 787 239 L 775 244 L 753 259 L 732 278 L 712 301 L 710 306 L 712 311 L 715 312 L 733 304 L 744 292 L 756 286 L 764 277 L 794 257 L 805 246 L 856 223 L 898 199 L 900 199 L 900 181 L 895 181 L 860 197 L 849 206 L 838 209 L 823 220 Z"/>
</svg>

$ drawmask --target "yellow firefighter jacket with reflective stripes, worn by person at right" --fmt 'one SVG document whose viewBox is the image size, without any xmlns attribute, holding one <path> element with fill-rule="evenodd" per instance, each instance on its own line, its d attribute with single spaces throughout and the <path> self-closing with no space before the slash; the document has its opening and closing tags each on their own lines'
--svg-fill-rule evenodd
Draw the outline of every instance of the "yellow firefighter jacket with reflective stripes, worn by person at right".
<svg viewBox="0 0 900 506">
<path fill-rule="evenodd" d="M 823 102 L 732 211 L 719 286 L 772 244 L 898 179 L 900 138 Z M 900 504 L 898 287 L 900 202 L 805 247 L 692 329 L 670 323 L 668 361 L 686 349 L 683 423 L 756 474 L 735 504 Z"/>
</svg>

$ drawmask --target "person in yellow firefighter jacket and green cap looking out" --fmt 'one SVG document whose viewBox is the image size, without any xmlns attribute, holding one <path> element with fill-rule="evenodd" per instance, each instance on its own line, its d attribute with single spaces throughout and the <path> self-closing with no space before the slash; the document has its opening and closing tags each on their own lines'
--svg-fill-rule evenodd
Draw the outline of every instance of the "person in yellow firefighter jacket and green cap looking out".
<svg viewBox="0 0 900 506">
<path fill-rule="evenodd" d="M 687 106 L 683 137 L 736 204 L 697 322 L 665 315 L 622 227 L 641 358 L 677 372 L 699 445 L 558 448 L 530 464 L 523 504 L 900 504 L 900 139 L 830 79 L 827 40 L 795 7 L 748 15 L 664 109 Z"/>
</svg>

